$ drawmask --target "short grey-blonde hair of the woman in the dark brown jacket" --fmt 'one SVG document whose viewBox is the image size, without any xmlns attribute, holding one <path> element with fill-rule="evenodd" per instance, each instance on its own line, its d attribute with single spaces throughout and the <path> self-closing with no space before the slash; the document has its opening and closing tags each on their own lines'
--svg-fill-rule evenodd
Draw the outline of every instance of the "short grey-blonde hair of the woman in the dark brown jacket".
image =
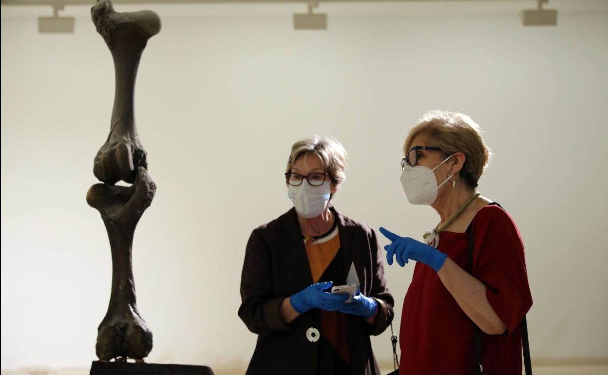
<svg viewBox="0 0 608 375">
<path fill-rule="evenodd" d="M 291 154 L 287 162 L 286 172 L 291 172 L 291 168 L 294 167 L 295 160 L 298 157 L 308 153 L 319 155 L 321 160 L 323 160 L 325 172 L 330 174 L 331 181 L 336 186 L 344 182 L 346 179 L 344 171 L 346 170 L 347 153 L 342 143 L 330 137 L 319 136 L 295 142 L 291 146 Z"/>
</svg>

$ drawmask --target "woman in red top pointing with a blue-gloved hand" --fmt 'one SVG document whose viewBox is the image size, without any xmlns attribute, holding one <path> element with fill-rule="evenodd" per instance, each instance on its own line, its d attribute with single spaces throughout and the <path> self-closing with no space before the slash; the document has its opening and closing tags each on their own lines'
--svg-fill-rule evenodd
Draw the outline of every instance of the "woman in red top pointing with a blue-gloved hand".
<svg viewBox="0 0 608 375">
<path fill-rule="evenodd" d="M 472 375 L 475 325 L 483 373 L 522 373 L 520 322 L 532 305 L 522 239 L 511 216 L 477 192 L 491 153 L 470 117 L 433 111 L 404 145 L 401 182 L 440 222 L 424 243 L 388 230 L 399 266 L 415 260 L 401 316 L 399 374 Z M 472 254 L 472 256 L 469 256 Z M 471 259 L 470 259 L 471 258 Z"/>
</svg>

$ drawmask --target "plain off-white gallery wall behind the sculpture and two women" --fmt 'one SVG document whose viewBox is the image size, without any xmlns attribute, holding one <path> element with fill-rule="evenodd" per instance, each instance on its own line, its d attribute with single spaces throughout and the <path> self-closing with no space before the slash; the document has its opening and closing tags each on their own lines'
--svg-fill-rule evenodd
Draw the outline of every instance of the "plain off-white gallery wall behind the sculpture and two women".
<svg viewBox="0 0 608 375">
<path fill-rule="evenodd" d="M 290 207 L 296 139 L 344 143 L 342 212 L 415 237 L 437 224 L 399 184 L 404 136 L 435 108 L 471 115 L 496 154 L 480 190 L 525 241 L 534 359 L 608 360 L 608 4 L 551 1 L 559 26 L 534 28 L 517 18 L 534 2 L 492 3 L 322 5 L 326 32 L 292 30 L 293 4 L 157 8 L 136 120 L 158 190 L 133 253 L 151 362 L 246 366 L 244 246 Z M 65 12 L 73 35 L 38 35 L 48 12 L 2 6 L 2 369 L 87 366 L 109 298 L 108 240 L 85 193 L 112 60 L 86 7 Z M 396 331 L 412 270 L 387 269 Z M 390 360 L 389 334 L 373 345 Z"/>
</svg>

